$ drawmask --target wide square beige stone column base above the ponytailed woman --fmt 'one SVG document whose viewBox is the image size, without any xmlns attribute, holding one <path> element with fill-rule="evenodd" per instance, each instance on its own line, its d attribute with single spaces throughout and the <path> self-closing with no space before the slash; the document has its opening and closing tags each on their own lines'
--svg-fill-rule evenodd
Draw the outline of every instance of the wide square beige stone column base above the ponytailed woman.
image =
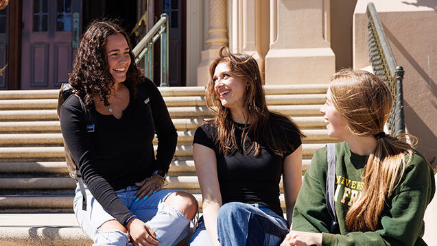
<svg viewBox="0 0 437 246">
<path fill-rule="evenodd" d="M 329 0 L 270 0 L 265 84 L 322 84 L 335 72 Z"/>
</svg>

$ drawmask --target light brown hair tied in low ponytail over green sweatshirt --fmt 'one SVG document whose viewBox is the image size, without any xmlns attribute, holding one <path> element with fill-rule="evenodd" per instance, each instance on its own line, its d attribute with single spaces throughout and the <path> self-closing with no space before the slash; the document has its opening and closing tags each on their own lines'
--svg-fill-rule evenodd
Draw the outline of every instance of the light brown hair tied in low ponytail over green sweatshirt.
<svg viewBox="0 0 437 246">
<path fill-rule="evenodd" d="M 366 71 L 342 70 L 331 78 L 329 89 L 335 108 L 344 116 L 353 134 L 374 136 L 383 132 L 392 108 L 392 95 L 386 84 Z M 399 184 L 405 158 L 411 156 L 416 138 L 410 134 L 377 138 L 362 173 L 364 188 L 346 214 L 346 226 L 357 232 L 375 231 L 386 199 Z"/>
</svg>

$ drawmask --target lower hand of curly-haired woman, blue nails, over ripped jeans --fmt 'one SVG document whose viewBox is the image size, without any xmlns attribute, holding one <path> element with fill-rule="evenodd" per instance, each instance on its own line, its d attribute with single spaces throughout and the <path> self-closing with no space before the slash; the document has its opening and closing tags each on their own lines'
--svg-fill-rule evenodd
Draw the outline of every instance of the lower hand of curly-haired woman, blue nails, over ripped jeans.
<svg viewBox="0 0 437 246">
<path fill-rule="evenodd" d="M 156 233 L 146 223 L 137 218 L 131 219 L 126 228 L 134 245 L 149 246 L 160 243 Z"/>
</svg>

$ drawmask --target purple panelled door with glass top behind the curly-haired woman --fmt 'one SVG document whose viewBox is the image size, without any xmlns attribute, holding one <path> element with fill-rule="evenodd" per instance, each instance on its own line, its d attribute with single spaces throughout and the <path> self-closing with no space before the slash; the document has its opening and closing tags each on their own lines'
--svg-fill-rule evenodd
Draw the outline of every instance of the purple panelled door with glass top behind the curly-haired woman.
<svg viewBox="0 0 437 246">
<path fill-rule="evenodd" d="M 82 0 L 23 0 L 21 89 L 68 82 L 81 9 Z"/>
</svg>

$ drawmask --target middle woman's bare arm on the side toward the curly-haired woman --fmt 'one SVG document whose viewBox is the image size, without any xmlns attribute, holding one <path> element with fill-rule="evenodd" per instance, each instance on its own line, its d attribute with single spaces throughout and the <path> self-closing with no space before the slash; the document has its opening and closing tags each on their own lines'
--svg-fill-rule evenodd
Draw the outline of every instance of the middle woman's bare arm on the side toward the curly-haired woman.
<svg viewBox="0 0 437 246">
<path fill-rule="evenodd" d="M 203 219 L 209 237 L 214 245 L 220 245 L 217 239 L 217 214 L 222 206 L 222 195 L 217 177 L 217 160 L 213 149 L 193 144 L 193 158 L 202 192 Z"/>
</svg>

